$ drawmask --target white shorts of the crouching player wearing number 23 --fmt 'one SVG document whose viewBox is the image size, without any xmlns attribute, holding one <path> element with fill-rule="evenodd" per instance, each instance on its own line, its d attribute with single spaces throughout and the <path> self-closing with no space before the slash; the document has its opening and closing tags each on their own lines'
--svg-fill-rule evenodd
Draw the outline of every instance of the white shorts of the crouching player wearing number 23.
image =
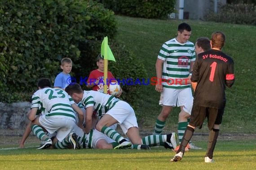
<svg viewBox="0 0 256 170">
<path fill-rule="evenodd" d="M 50 134 L 57 132 L 56 137 L 60 142 L 72 132 L 75 126 L 75 120 L 52 116 L 46 117 L 45 115 L 39 117 L 39 123 Z"/>
</svg>

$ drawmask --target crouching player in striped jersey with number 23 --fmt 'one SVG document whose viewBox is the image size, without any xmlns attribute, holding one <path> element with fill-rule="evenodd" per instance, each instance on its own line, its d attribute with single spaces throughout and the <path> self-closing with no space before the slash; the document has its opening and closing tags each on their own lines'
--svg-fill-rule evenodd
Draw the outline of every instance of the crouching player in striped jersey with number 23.
<svg viewBox="0 0 256 170">
<path fill-rule="evenodd" d="M 32 95 L 31 111 L 28 114 L 29 120 L 32 121 L 32 131 L 40 140 L 44 142 L 37 149 L 45 149 L 52 144 L 70 143 L 73 149 L 76 149 L 76 135 L 72 132 L 75 126 L 75 113 L 79 113 L 79 125 L 82 127 L 83 111 L 74 103 L 71 106 L 68 94 L 62 89 L 50 88 L 51 83 L 47 78 L 41 78 L 38 81 L 38 88 Z M 44 108 L 44 114 L 36 117 L 37 110 Z M 44 134 L 44 130 L 47 130 L 50 134 L 57 132 L 57 136 L 53 139 L 49 139 Z"/>
</svg>

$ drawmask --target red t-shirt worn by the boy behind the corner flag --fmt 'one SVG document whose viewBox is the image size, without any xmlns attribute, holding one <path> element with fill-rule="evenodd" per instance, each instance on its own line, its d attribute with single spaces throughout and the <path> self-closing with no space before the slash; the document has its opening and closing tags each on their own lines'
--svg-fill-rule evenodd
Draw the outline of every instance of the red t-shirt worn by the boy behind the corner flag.
<svg viewBox="0 0 256 170">
<path fill-rule="evenodd" d="M 97 80 L 99 80 L 99 84 L 94 85 Z M 110 94 L 109 92 L 110 82 L 115 82 L 115 81 L 116 79 L 113 76 L 113 74 L 110 71 L 108 71 L 107 72 L 107 93 Z M 94 85 L 92 90 L 104 93 L 104 72 L 100 72 L 98 69 L 93 70 L 88 77 L 87 84 Z"/>
</svg>

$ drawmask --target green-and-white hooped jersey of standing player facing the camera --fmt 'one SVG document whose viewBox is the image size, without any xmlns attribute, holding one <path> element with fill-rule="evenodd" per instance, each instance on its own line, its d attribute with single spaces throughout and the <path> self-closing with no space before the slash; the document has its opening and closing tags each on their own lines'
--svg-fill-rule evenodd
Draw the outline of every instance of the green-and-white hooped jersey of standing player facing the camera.
<svg viewBox="0 0 256 170">
<path fill-rule="evenodd" d="M 190 41 L 182 44 L 173 38 L 163 43 L 158 55 L 158 58 L 164 61 L 162 78 L 168 81 L 162 83 L 163 87 L 172 89 L 190 87 L 190 84 L 180 85 L 179 82 L 190 74 L 190 62 L 195 61 L 194 50 L 194 44 Z"/>
</svg>

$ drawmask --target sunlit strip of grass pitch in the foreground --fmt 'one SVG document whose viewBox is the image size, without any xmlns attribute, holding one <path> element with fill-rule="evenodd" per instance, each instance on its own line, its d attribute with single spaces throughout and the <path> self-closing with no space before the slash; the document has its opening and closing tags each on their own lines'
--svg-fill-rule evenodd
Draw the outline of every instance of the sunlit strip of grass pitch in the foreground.
<svg viewBox="0 0 256 170">
<path fill-rule="evenodd" d="M 197 145 L 203 149 L 186 152 L 180 162 L 169 162 L 174 153 L 162 147 L 151 150 L 0 150 L 0 170 L 253 170 L 256 166 L 255 141 L 218 141 L 213 164 L 204 163 L 206 142 L 197 142 Z"/>
</svg>

